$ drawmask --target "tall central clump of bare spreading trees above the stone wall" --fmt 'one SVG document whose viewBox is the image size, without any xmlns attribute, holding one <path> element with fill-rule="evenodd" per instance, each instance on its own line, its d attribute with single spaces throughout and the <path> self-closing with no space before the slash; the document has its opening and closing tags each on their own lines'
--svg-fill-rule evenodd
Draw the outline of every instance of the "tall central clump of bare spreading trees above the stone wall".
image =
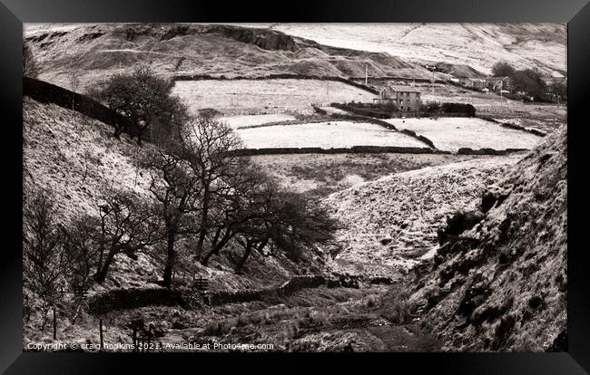
<svg viewBox="0 0 590 375">
<path fill-rule="evenodd" d="M 293 259 L 305 246 L 329 242 L 337 223 L 309 198 L 289 193 L 250 160 L 231 128 L 214 117 L 188 120 L 179 142 L 143 159 L 166 243 L 162 284 L 170 286 L 176 244 L 192 244 L 195 261 L 239 246 L 240 273 L 252 251 L 282 250 Z"/>
</svg>

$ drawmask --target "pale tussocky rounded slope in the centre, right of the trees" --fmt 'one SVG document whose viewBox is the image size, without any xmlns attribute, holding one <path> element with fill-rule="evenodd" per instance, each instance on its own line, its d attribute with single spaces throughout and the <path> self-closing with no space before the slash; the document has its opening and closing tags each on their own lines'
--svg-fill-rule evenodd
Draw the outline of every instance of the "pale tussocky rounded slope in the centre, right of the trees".
<svg viewBox="0 0 590 375">
<path fill-rule="evenodd" d="M 411 170 L 349 187 L 324 202 L 343 222 L 338 259 L 406 268 L 437 245 L 437 226 L 497 182 L 517 157 Z M 386 268 L 387 270 L 387 268 Z"/>
</svg>

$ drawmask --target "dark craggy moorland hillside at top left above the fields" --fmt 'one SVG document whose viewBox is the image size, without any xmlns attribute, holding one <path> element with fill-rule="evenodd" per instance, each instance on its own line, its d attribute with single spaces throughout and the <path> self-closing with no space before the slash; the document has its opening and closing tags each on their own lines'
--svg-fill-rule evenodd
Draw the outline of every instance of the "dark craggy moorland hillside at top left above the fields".
<svg viewBox="0 0 590 375">
<path fill-rule="evenodd" d="M 256 77 L 270 73 L 429 78 L 423 66 L 388 53 L 321 45 L 269 29 L 221 24 L 31 24 L 40 78 L 71 87 L 76 75 L 86 87 L 105 74 L 137 63 L 163 76 L 223 74 Z"/>
</svg>

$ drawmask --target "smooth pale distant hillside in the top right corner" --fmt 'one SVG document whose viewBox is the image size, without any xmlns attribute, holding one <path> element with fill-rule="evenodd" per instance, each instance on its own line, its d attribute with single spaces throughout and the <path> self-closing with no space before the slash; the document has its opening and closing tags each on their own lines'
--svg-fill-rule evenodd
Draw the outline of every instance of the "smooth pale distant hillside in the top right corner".
<svg viewBox="0 0 590 375">
<path fill-rule="evenodd" d="M 468 65 L 490 73 L 497 61 L 566 73 L 565 24 L 256 24 L 318 43 L 389 53 L 414 63 Z"/>
</svg>

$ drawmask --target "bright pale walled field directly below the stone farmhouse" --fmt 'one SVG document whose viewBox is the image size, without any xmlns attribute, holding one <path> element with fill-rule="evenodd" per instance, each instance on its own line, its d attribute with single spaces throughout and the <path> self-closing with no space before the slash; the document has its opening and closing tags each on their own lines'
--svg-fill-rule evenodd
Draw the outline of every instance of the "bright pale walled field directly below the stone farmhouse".
<svg viewBox="0 0 590 375">
<path fill-rule="evenodd" d="M 451 117 L 439 119 L 386 120 L 402 130 L 414 130 L 432 140 L 438 149 L 532 149 L 541 139 L 522 130 L 504 128 L 481 119 Z"/>
</svg>

